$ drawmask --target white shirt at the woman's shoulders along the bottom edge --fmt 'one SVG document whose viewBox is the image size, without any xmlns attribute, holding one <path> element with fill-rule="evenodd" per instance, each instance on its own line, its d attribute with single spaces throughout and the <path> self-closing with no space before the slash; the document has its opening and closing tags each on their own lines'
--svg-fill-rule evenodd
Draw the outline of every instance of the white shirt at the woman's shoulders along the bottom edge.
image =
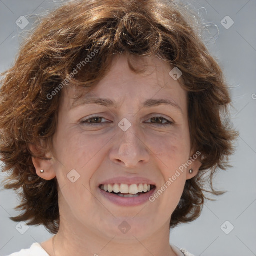
<svg viewBox="0 0 256 256">
<path fill-rule="evenodd" d="M 179 249 L 178 247 L 171 245 L 171 248 L 178 256 L 194 256 L 189 253 L 184 248 Z M 18 252 L 14 252 L 8 256 L 50 256 L 40 245 L 40 243 L 35 242 L 31 245 L 29 249 L 22 249 Z"/>
</svg>

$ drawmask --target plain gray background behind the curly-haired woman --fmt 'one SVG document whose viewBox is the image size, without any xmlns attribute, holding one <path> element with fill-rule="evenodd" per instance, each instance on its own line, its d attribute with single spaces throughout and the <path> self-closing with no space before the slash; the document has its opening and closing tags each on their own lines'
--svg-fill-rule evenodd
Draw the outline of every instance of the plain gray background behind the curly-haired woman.
<svg viewBox="0 0 256 256">
<path fill-rule="evenodd" d="M 31 28 L 35 14 L 59 2 L 0 0 L 0 72 L 13 63 L 20 33 Z M 256 255 L 256 0 L 196 0 L 193 6 L 208 23 L 205 43 L 230 84 L 231 119 L 240 136 L 236 153 L 230 159 L 233 167 L 220 171 L 214 180 L 216 188 L 228 192 L 217 201 L 207 201 L 197 220 L 173 229 L 170 241 L 196 256 L 252 256 Z M 21 15 L 29 21 L 24 29 L 15 24 Z M 227 15 L 234 21 L 228 29 L 220 23 Z M 222 22 L 225 26 L 231 24 L 228 19 Z M 42 226 L 30 226 L 24 234 L 19 233 L 18 227 L 25 230 L 25 226 L 9 220 L 10 216 L 17 215 L 14 210 L 17 204 L 14 192 L 0 191 L 0 255 L 51 237 Z M 229 222 L 222 225 L 225 221 Z M 234 229 L 230 232 L 232 226 Z"/>
</svg>

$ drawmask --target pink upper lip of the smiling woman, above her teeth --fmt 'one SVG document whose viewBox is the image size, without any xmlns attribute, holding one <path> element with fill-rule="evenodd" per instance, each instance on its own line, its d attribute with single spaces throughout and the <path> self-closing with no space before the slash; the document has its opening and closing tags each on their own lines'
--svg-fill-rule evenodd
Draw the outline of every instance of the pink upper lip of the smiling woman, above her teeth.
<svg viewBox="0 0 256 256">
<path fill-rule="evenodd" d="M 98 186 L 104 185 L 104 184 L 131 185 L 131 184 L 141 184 L 141 183 L 148 184 L 148 185 L 155 185 L 155 182 L 153 182 L 152 180 L 150 180 L 148 178 L 144 178 L 144 177 L 115 177 L 115 178 L 106 179 L 106 180 L 100 182 L 98 184 Z"/>
</svg>

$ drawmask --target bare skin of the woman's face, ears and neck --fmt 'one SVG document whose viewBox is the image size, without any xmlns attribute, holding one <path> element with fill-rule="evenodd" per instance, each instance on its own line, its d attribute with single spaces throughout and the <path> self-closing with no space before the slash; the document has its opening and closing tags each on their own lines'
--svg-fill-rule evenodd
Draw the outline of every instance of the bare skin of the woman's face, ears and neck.
<svg viewBox="0 0 256 256">
<path fill-rule="evenodd" d="M 180 86 L 181 78 L 172 79 L 169 64 L 155 57 L 139 58 L 134 63 L 148 68 L 136 74 L 129 69 L 127 56 L 114 56 L 110 71 L 85 94 L 115 100 L 117 108 L 81 104 L 70 110 L 73 96 L 80 91 L 65 88 L 53 137 L 54 153 L 46 154 L 52 159 L 33 158 L 37 174 L 47 180 L 56 176 L 59 185 L 56 256 L 72 255 L 74 251 L 83 256 L 176 255 L 169 245 L 169 222 L 186 179 L 198 172 L 198 160 L 154 202 L 115 205 L 99 193 L 97 186 L 116 176 L 139 176 L 153 180 L 159 189 L 196 151 L 190 145 L 187 92 Z M 166 104 L 142 107 L 142 102 L 152 98 L 170 99 L 180 109 Z M 96 123 L 103 125 L 81 123 L 92 116 L 102 116 L 104 119 Z M 161 120 L 151 119 L 155 116 L 172 123 L 161 126 Z M 123 118 L 131 123 L 125 132 L 117 125 Z M 30 149 L 36 150 L 32 145 Z M 74 183 L 67 178 L 72 169 L 80 175 Z M 118 228 L 123 221 L 131 227 L 125 234 Z M 52 238 L 41 245 L 54 255 Z"/>
</svg>

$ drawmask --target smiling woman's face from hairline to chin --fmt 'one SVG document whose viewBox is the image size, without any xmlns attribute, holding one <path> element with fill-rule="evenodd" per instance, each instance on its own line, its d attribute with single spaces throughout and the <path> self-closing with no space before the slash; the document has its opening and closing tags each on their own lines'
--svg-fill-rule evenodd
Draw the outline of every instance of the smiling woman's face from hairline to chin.
<svg viewBox="0 0 256 256">
<path fill-rule="evenodd" d="M 115 56 L 106 76 L 78 100 L 79 91 L 65 89 L 53 137 L 60 220 L 108 239 L 168 233 L 185 181 L 197 172 L 193 161 L 177 174 L 193 154 L 186 91 L 164 61 L 136 64 L 148 68 L 136 74 L 125 55 Z M 95 102 L 101 98 L 107 100 Z"/>
</svg>

